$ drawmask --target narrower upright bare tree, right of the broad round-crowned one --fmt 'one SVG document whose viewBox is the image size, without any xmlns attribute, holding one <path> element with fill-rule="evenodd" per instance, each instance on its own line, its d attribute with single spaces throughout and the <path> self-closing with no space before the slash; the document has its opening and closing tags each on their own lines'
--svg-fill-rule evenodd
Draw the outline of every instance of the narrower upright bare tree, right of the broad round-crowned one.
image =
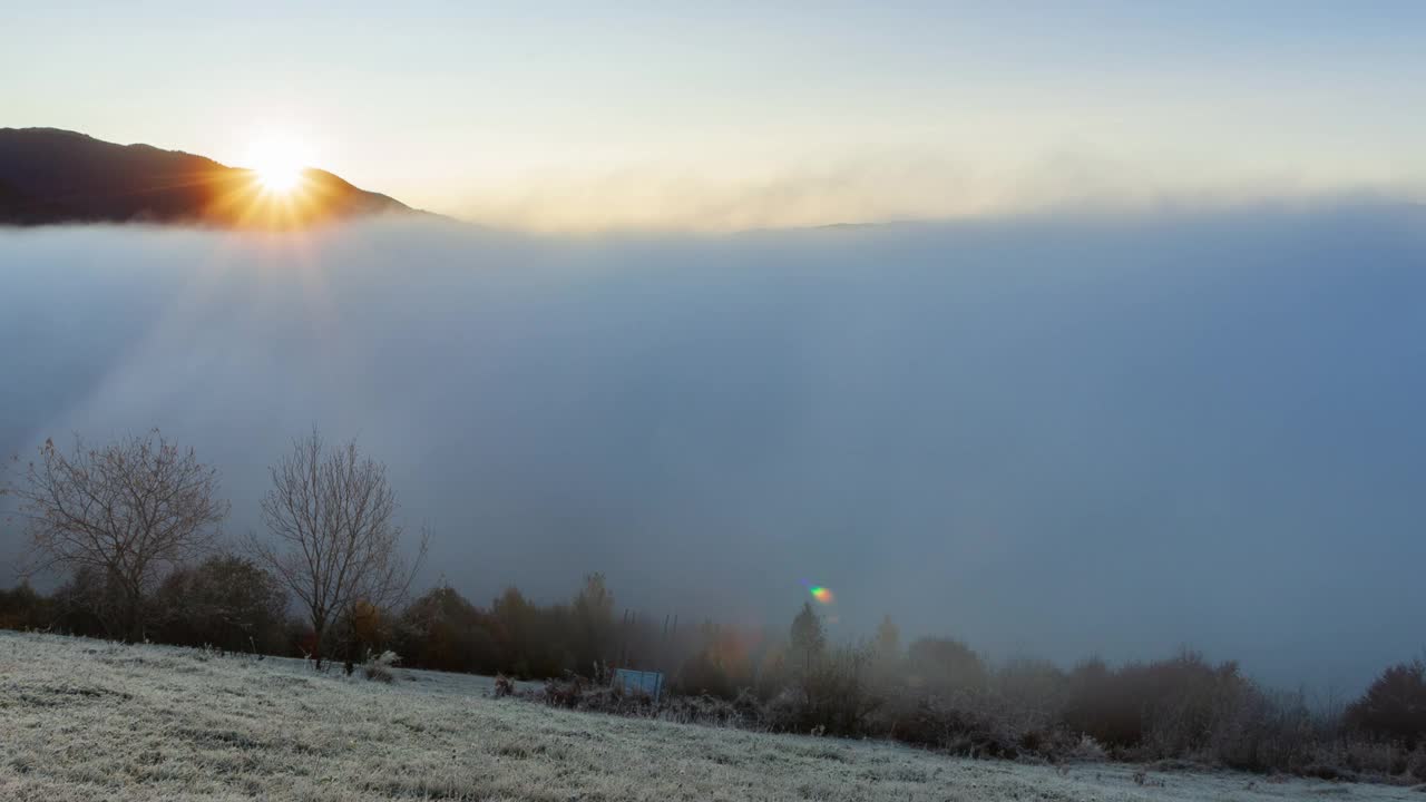
<svg viewBox="0 0 1426 802">
<path fill-rule="evenodd" d="M 305 608 L 321 662 L 334 625 L 354 621 L 358 605 L 386 609 L 405 597 L 426 538 L 412 562 L 401 555 L 386 468 L 355 440 L 329 450 L 314 430 L 271 472 L 262 499 L 271 538 L 250 535 L 248 548 Z"/>
</svg>

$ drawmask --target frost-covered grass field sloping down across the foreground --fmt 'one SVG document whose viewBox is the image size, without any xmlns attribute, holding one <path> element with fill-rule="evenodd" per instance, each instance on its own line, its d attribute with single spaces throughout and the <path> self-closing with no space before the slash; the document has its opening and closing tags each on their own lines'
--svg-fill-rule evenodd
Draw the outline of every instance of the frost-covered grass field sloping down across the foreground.
<svg viewBox="0 0 1426 802">
<path fill-rule="evenodd" d="M 610 718 L 298 661 L 0 632 L 0 799 L 1423 799 L 1238 773 L 1068 769 Z"/>
</svg>

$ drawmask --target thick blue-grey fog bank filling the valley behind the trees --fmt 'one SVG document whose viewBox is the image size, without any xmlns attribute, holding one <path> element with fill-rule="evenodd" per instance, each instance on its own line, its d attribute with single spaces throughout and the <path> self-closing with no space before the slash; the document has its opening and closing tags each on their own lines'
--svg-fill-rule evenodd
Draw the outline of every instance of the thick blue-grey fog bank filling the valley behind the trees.
<svg viewBox="0 0 1426 802">
<path fill-rule="evenodd" d="M 0 451 L 160 427 L 231 534 L 312 425 L 424 582 L 995 656 L 1194 645 L 1355 691 L 1426 646 L 1426 213 L 737 235 L 0 233 Z M 0 524 L 0 584 L 21 532 Z"/>
</svg>

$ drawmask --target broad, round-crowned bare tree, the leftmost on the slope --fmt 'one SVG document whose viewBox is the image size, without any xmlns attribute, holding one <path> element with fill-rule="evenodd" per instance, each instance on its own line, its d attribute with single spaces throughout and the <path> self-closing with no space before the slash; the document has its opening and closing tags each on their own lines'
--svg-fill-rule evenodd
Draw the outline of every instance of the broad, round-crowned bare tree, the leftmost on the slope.
<svg viewBox="0 0 1426 802">
<path fill-rule="evenodd" d="M 201 554 L 228 515 L 218 475 L 153 430 L 104 448 L 46 440 L 10 492 L 29 535 L 26 575 L 100 577 L 116 609 L 96 609 L 111 636 L 143 636 L 144 599 L 174 565 Z M 108 605 L 106 605 L 108 606 Z"/>
</svg>

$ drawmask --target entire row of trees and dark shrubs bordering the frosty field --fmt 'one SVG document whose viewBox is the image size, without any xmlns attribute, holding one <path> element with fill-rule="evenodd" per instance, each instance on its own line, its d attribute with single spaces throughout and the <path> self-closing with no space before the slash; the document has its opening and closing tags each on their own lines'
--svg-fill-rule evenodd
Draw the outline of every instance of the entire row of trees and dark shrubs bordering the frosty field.
<svg viewBox="0 0 1426 802">
<path fill-rule="evenodd" d="M 833 644 L 811 604 L 781 632 L 617 615 L 597 572 L 553 604 L 511 587 L 481 606 L 445 584 L 412 598 L 426 534 L 398 524 L 381 462 L 312 431 L 270 478 L 267 537 L 224 544 L 230 505 L 191 448 L 158 431 L 100 448 L 77 441 L 68 452 L 47 441 L 4 492 L 27 535 L 26 569 L 64 581 L 51 594 L 29 582 L 0 591 L 0 626 L 339 659 L 348 671 L 385 651 L 408 666 L 522 679 L 647 668 L 719 721 L 766 729 L 985 756 L 1195 758 L 1426 781 L 1420 661 L 1387 668 L 1350 704 L 1309 705 L 1188 651 L 1065 671 L 992 664 L 953 638 L 903 645 L 890 616 L 864 642 Z M 607 688 L 549 698 L 602 709 L 592 699 L 607 699 Z"/>
</svg>

